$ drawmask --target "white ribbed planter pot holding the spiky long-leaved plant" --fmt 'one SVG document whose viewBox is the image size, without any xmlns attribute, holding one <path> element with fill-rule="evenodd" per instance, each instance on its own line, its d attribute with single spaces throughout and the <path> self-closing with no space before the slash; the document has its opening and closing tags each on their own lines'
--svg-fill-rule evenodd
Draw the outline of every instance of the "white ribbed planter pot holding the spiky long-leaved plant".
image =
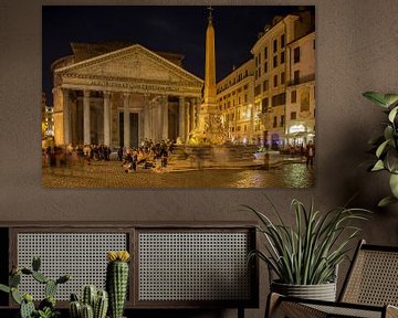
<svg viewBox="0 0 398 318">
<path fill-rule="evenodd" d="M 271 290 L 291 297 L 336 301 L 336 283 L 320 285 L 290 285 L 272 282 Z"/>
</svg>

